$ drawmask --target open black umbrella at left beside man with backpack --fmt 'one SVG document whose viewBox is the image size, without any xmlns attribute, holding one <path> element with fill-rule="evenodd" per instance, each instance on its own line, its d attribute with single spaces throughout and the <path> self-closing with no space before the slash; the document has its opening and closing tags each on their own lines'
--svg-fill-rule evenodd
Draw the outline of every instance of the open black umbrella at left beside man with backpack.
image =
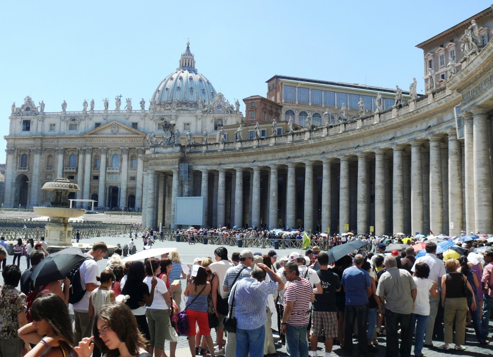
<svg viewBox="0 0 493 357">
<path fill-rule="evenodd" d="M 80 265 L 86 257 L 82 251 L 76 247 L 66 248 L 60 252 L 50 254 L 33 269 L 31 279 L 34 288 L 62 280 L 67 277 L 70 271 Z"/>
</svg>

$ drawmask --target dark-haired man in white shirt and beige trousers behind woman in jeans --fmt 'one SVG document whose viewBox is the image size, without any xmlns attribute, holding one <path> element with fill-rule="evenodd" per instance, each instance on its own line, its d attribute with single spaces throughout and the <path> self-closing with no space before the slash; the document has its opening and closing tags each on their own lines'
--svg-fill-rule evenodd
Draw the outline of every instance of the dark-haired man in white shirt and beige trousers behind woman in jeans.
<svg viewBox="0 0 493 357">
<path fill-rule="evenodd" d="M 442 260 L 436 257 L 436 243 L 429 242 L 426 243 L 424 247 L 426 250 L 426 255 L 424 257 L 418 258 L 411 269 L 414 273 L 414 267 L 417 263 L 426 263 L 430 268 L 430 274 L 428 279 L 437 283 L 438 288 L 440 289 L 440 282 L 442 276 L 446 274 L 445 266 Z M 414 274 L 413 276 L 416 276 Z M 428 316 L 428 320 L 426 321 L 426 330 L 424 331 L 424 346 L 427 348 L 433 347 L 432 336 L 433 336 L 433 327 L 435 326 L 436 314 L 438 312 L 438 304 L 440 303 L 440 295 L 438 297 L 433 297 L 430 295 L 430 314 Z"/>
</svg>

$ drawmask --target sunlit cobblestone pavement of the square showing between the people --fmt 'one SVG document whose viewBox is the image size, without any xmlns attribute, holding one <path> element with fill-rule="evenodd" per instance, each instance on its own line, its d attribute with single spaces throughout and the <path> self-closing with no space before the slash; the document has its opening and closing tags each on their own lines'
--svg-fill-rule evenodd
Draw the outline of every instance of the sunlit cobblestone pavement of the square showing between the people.
<svg viewBox="0 0 493 357">
<path fill-rule="evenodd" d="M 93 243 L 96 241 L 103 240 L 107 244 L 110 245 L 116 245 L 117 243 L 120 243 L 122 246 L 124 244 L 128 244 L 130 241 L 130 238 L 122 238 L 122 237 L 100 237 L 100 238 L 91 238 L 91 239 L 84 239 L 81 240 L 81 243 Z M 141 239 L 135 240 L 137 241 L 137 248 L 138 251 L 140 251 L 143 247 Z M 184 263 L 192 263 L 193 260 L 197 257 L 213 257 L 214 256 L 214 249 L 217 248 L 218 246 L 216 245 L 204 245 L 204 244 L 192 244 L 189 245 L 186 242 L 159 242 L 156 241 L 156 244 L 153 245 L 153 248 L 163 248 L 163 247 L 170 247 L 170 248 L 177 248 L 179 254 L 182 257 L 182 260 Z M 242 248 L 238 247 L 227 247 L 229 255 L 233 252 L 240 252 Z M 260 248 L 255 248 L 252 249 L 253 252 L 261 252 L 262 254 L 266 254 L 269 249 L 260 249 Z M 288 255 L 292 250 L 279 250 L 278 254 L 280 256 L 283 255 Z M 299 251 L 299 250 L 298 250 Z M 7 263 L 12 262 L 12 257 L 7 258 Z M 100 268 L 100 271 L 106 268 L 106 262 L 107 260 L 100 260 L 98 262 L 98 266 Z M 26 269 L 26 259 L 21 258 L 21 271 L 24 271 Z M 3 284 L 3 279 L 0 277 L 0 284 Z M 182 298 L 183 301 L 183 298 Z M 184 307 L 184 304 L 182 302 L 181 308 Z M 272 328 L 273 330 L 277 331 L 277 314 L 274 313 L 272 316 L 272 321 L 273 325 Z M 493 322 L 491 323 L 493 324 Z M 492 327 L 490 327 L 491 330 Z M 211 332 L 212 340 L 215 340 L 215 332 Z M 277 341 L 279 338 L 277 332 L 274 332 L 274 340 Z M 490 336 L 491 339 L 493 340 L 493 336 Z M 428 348 L 423 348 L 423 354 L 426 357 L 446 357 L 450 355 L 460 355 L 460 356 L 471 356 L 471 357 L 482 357 L 482 356 L 492 356 L 493 355 L 493 342 L 489 346 L 480 346 L 475 338 L 474 335 L 474 330 L 472 328 L 467 328 L 467 342 L 466 342 L 466 351 L 463 352 L 457 352 L 453 350 L 449 350 L 447 352 L 441 351 L 438 349 L 439 346 L 443 344 L 441 341 L 433 341 L 434 348 L 433 349 L 428 349 Z M 357 345 L 357 341 L 354 339 L 353 343 Z M 378 338 L 378 343 L 379 343 L 379 352 L 376 353 L 374 356 L 375 357 L 385 357 L 385 336 L 381 336 Z M 286 348 L 285 346 L 276 344 L 276 348 L 278 351 L 278 356 L 288 356 L 286 353 Z M 318 355 L 319 356 L 324 356 L 323 355 L 323 343 L 319 342 L 318 343 Z M 166 351 L 169 356 L 169 343 L 166 343 Z M 176 350 L 176 356 L 181 357 L 181 356 L 190 356 L 190 351 L 188 349 L 188 341 L 186 337 L 180 337 L 178 340 L 177 344 L 177 350 Z M 339 346 L 334 346 L 332 350 L 332 356 L 344 356 L 343 350 Z M 354 353 L 353 356 L 357 356 L 357 348 L 354 348 Z"/>
</svg>

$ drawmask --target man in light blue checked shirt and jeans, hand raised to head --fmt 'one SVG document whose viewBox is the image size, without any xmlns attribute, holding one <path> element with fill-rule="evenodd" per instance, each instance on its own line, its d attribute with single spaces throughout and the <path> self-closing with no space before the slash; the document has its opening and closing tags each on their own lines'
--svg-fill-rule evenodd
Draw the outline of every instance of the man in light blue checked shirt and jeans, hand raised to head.
<svg viewBox="0 0 493 357">
<path fill-rule="evenodd" d="M 284 289 L 281 278 L 267 265 L 257 264 L 250 278 L 238 280 L 229 295 L 236 306 L 236 356 L 263 357 L 267 296 Z M 273 282 L 267 282 L 266 272 Z M 252 342 L 252 343 L 250 343 Z"/>
</svg>

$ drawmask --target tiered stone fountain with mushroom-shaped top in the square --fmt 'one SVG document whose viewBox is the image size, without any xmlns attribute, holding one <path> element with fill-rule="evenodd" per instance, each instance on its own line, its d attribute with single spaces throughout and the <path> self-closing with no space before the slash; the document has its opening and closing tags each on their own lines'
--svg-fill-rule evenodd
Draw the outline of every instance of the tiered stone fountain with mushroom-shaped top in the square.
<svg viewBox="0 0 493 357">
<path fill-rule="evenodd" d="M 79 186 L 70 183 L 64 178 L 56 178 L 53 182 L 47 182 L 41 190 L 53 191 L 52 207 L 34 207 L 35 214 L 49 216 L 50 221 L 45 226 L 45 241 L 52 251 L 71 246 L 72 226 L 69 218 L 82 216 L 86 210 L 70 208 L 69 194 L 80 192 Z"/>
</svg>

